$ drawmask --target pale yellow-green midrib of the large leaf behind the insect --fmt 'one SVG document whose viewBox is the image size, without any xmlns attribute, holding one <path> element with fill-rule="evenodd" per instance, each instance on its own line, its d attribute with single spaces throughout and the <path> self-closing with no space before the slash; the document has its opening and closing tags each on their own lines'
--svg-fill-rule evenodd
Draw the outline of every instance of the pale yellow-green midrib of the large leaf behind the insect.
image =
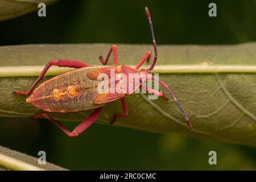
<svg viewBox="0 0 256 182">
<path fill-rule="evenodd" d="M 0 77 L 38 76 L 43 68 L 43 65 L 0 67 Z M 72 70 L 73 68 L 51 67 L 46 75 L 54 76 Z M 256 73 L 256 65 L 156 65 L 153 73 Z"/>
</svg>

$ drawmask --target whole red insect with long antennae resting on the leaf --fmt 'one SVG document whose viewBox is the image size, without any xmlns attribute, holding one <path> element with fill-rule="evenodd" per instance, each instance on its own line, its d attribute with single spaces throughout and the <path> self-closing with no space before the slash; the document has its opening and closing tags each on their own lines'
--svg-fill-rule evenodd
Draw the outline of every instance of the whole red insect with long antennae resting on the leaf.
<svg viewBox="0 0 256 182">
<path fill-rule="evenodd" d="M 27 92 L 18 92 L 14 91 L 16 94 L 23 94 L 28 95 L 32 92 L 32 90 L 35 88 L 36 84 L 40 80 L 42 80 L 44 74 L 47 72 L 49 67 L 52 65 L 57 65 L 59 67 L 70 67 L 70 68 L 78 68 L 74 71 L 70 71 L 67 73 L 64 73 L 63 75 L 59 75 L 56 77 L 53 77 L 47 81 L 44 81 L 42 84 L 38 86 L 34 90 L 34 92 L 26 99 L 26 102 L 29 104 L 32 104 L 39 109 L 42 109 L 47 112 L 56 112 L 56 113 L 74 113 L 78 111 L 83 110 L 91 110 L 95 109 L 92 114 L 89 115 L 88 118 L 86 118 L 82 123 L 80 123 L 79 126 L 75 128 L 72 132 L 69 132 L 63 125 L 61 125 L 59 122 L 53 120 L 51 117 L 49 117 L 46 113 L 38 114 L 34 117 L 45 117 L 49 119 L 53 124 L 55 124 L 57 127 L 59 127 L 62 131 L 64 131 L 65 134 L 67 134 L 69 137 L 76 137 L 80 135 L 83 131 L 88 129 L 90 125 L 101 114 L 102 108 L 105 104 L 108 102 L 112 102 L 114 100 L 120 99 L 123 109 L 123 114 L 114 114 L 113 120 L 111 123 L 114 123 L 115 119 L 121 118 L 121 117 L 127 117 L 128 110 L 126 106 L 125 99 L 123 98 L 126 95 L 130 95 L 131 92 L 126 93 L 99 93 L 97 86 L 100 84 L 101 80 L 98 80 L 97 77 L 101 73 L 105 73 L 109 77 L 110 69 L 114 69 L 115 73 L 122 75 L 129 75 L 129 73 L 138 73 L 148 75 L 151 73 L 152 69 L 154 69 L 156 59 L 158 58 L 157 49 L 156 49 L 156 42 L 155 42 L 155 36 L 154 36 L 154 30 L 151 22 L 151 16 L 150 12 L 145 8 L 146 15 L 148 22 L 150 24 L 151 28 L 151 34 L 152 34 L 152 42 L 154 46 L 154 60 L 148 69 L 141 69 L 141 65 L 144 63 L 144 61 L 148 61 L 150 59 L 151 52 L 148 51 L 146 55 L 142 57 L 142 59 L 139 61 L 137 66 L 135 68 L 128 67 L 126 65 L 122 65 L 121 67 L 118 67 L 118 56 L 117 56 L 117 46 L 113 45 L 108 55 L 106 56 L 106 59 L 104 60 L 102 56 L 100 56 L 101 63 L 106 65 L 109 60 L 109 56 L 113 52 L 113 61 L 114 64 L 111 67 L 92 67 L 86 63 L 76 61 L 76 60 L 69 60 L 69 59 L 55 59 L 49 61 L 49 63 L 46 65 L 46 67 L 43 69 L 42 73 L 39 75 L 39 77 L 36 79 L 34 84 L 28 89 Z M 122 73 L 122 74 L 120 74 Z M 176 97 L 174 96 L 174 93 L 172 93 L 171 89 L 159 78 L 152 76 L 152 80 L 155 80 L 162 84 L 164 88 L 168 90 L 168 92 L 171 94 L 172 98 L 176 102 L 177 106 L 179 107 L 181 113 L 183 114 L 185 120 L 188 123 L 188 126 L 191 130 L 193 130 L 191 122 L 189 121 L 187 114 L 183 111 L 181 106 L 179 105 L 179 102 L 177 101 Z M 137 88 L 141 88 L 143 90 L 147 90 L 148 93 L 155 94 L 159 97 L 164 97 L 166 100 L 168 98 L 164 95 L 162 91 L 157 91 L 153 89 L 146 88 L 141 85 L 141 81 L 138 84 L 135 84 L 133 87 L 133 92 Z M 148 80 L 147 80 L 148 81 Z M 118 84 L 115 82 L 115 84 Z"/>
</svg>

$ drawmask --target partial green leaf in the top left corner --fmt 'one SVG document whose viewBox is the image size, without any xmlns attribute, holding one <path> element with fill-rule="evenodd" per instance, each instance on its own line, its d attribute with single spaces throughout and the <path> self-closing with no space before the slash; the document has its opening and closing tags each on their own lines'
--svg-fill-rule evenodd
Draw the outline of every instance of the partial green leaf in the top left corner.
<svg viewBox="0 0 256 182">
<path fill-rule="evenodd" d="M 35 11 L 40 2 L 50 5 L 56 1 L 58 0 L 2 0 L 0 2 L 0 21 Z"/>
</svg>

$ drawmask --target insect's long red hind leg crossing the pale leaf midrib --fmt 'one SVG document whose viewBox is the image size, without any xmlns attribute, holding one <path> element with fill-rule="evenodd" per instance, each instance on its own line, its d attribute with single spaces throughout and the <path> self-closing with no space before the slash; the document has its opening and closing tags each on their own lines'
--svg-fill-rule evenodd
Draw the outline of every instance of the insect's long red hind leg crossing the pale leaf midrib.
<svg viewBox="0 0 256 182">
<path fill-rule="evenodd" d="M 14 93 L 22 94 L 22 95 L 30 94 L 32 92 L 32 90 L 35 88 L 36 84 L 38 84 L 38 82 L 40 80 L 42 80 L 42 78 L 44 77 L 44 75 L 48 71 L 49 67 L 51 67 L 52 65 L 56 65 L 58 67 L 69 67 L 69 68 L 89 67 L 89 64 L 83 63 L 81 61 L 71 60 L 71 59 L 54 59 L 54 60 L 51 60 L 47 63 L 47 65 L 46 65 L 46 67 L 44 67 L 42 73 L 40 73 L 40 75 L 38 76 L 38 78 L 36 79 L 34 84 L 30 87 L 30 89 L 27 90 L 27 92 L 14 91 Z"/>
</svg>

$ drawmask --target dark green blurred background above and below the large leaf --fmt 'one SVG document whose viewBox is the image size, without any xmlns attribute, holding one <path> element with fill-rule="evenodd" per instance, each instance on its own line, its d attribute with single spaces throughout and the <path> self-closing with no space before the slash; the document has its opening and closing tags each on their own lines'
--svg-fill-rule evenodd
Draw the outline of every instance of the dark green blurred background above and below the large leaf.
<svg viewBox="0 0 256 182">
<path fill-rule="evenodd" d="M 208 16 L 210 2 L 217 17 Z M 144 6 L 151 11 L 158 44 L 237 44 L 256 40 L 256 1 L 63 0 L 0 22 L 0 45 L 38 43 L 151 44 Z M 120 56 L 121 57 L 121 56 Z M 36 61 L 36 60 L 35 60 Z M 68 129 L 78 123 L 64 123 Z M 0 118 L 0 145 L 68 169 L 255 170 L 256 148 L 178 134 L 155 134 L 95 124 L 69 139 L 44 119 Z M 217 152 L 209 165 L 208 152 Z"/>
</svg>

